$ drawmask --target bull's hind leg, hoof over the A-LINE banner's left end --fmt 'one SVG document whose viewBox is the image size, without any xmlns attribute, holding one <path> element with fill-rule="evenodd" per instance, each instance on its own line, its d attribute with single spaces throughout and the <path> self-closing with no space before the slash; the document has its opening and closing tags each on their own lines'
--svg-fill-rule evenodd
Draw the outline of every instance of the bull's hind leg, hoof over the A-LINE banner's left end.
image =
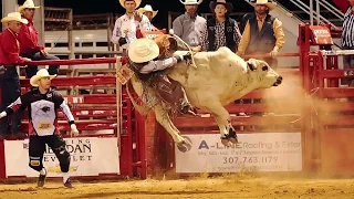
<svg viewBox="0 0 354 199">
<path fill-rule="evenodd" d="M 174 142 L 177 144 L 177 147 L 180 150 L 187 150 L 187 148 L 191 147 L 191 144 L 188 143 L 183 136 L 180 136 L 180 132 L 170 121 L 168 114 L 163 109 L 160 105 L 155 107 L 156 121 L 168 132 L 168 134 L 173 137 Z"/>
</svg>

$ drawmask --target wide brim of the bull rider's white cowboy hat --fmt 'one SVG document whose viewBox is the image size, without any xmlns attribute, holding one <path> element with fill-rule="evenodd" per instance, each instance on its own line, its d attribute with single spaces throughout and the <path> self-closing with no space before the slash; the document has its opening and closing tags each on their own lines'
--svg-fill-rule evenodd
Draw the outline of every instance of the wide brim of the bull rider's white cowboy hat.
<svg viewBox="0 0 354 199">
<path fill-rule="evenodd" d="M 140 48 L 140 44 L 147 43 L 152 46 L 152 52 L 146 56 L 138 56 L 135 51 Z M 156 59 L 159 55 L 159 48 L 155 41 L 150 39 L 138 39 L 131 43 L 128 49 L 128 57 L 135 63 L 144 63 Z"/>
</svg>

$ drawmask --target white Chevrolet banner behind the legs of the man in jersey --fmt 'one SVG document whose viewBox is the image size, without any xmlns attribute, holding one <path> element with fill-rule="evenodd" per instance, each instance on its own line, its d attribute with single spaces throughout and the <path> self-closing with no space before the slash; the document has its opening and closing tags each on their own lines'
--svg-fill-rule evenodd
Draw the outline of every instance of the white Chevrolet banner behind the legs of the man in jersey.
<svg viewBox="0 0 354 199">
<path fill-rule="evenodd" d="M 119 174 L 119 155 L 116 137 L 64 138 L 71 155 L 71 176 L 98 176 Z M 29 167 L 29 139 L 4 140 L 6 174 L 9 176 L 38 177 Z M 45 146 L 43 165 L 49 177 L 61 177 L 61 169 L 53 150 Z"/>
</svg>

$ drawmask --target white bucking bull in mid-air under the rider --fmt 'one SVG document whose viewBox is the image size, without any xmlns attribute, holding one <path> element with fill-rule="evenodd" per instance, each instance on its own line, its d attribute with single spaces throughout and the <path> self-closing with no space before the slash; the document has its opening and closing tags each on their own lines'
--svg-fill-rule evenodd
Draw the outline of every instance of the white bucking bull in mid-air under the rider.
<svg viewBox="0 0 354 199">
<path fill-rule="evenodd" d="M 175 55 L 186 53 L 177 51 Z M 216 118 L 223 145 L 237 143 L 230 115 L 223 106 L 254 90 L 278 86 L 282 77 L 266 62 L 254 59 L 246 62 L 228 48 L 220 48 L 216 52 L 199 52 L 194 59 L 197 67 L 181 62 L 170 69 L 168 76 L 181 84 L 190 104 L 206 109 Z M 131 82 L 135 92 L 142 96 L 140 81 L 133 76 Z M 178 147 L 189 145 L 162 105 L 156 105 L 154 111 L 157 122 L 170 134 Z"/>
</svg>

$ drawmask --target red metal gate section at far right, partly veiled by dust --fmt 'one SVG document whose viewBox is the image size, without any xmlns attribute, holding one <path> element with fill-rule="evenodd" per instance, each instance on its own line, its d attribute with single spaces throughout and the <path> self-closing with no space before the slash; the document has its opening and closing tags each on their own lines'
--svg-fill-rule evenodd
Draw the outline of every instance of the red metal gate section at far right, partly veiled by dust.
<svg viewBox="0 0 354 199">
<path fill-rule="evenodd" d="M 312 146 L 315 154 L 313 166 L 325 174 L 354 172 L 351 166 L 354 147 L 347 142 L 353 138 L 354 129 L 354 70 L 339 67 L 339 57 L 351 55 L 354 55 L 353 50 L 321 50 L 309 55 L 311 84 L 315 93 L 312 112 L 308 113 L 314 115 L 312 137 L 316 143 Z"/>
</svg>

